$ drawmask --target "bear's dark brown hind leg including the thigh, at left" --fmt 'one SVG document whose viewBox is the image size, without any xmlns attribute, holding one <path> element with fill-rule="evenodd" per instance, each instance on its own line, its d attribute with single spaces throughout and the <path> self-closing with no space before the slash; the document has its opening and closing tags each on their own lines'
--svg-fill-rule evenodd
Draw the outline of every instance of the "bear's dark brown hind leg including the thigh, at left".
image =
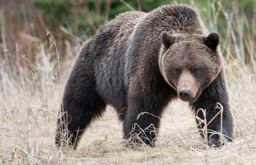
<svg viewBox="0 0 256 165">
<path fill-rule="evenodd" d="M 93 76 L 86 69 L 81 70 L 81 66 L 84 65 L 75 65 L 65 87 L 56 145 L 66 143 L 76 147 L 84 130 L 93 119 L 101 117 L 106 108 L 105 101 L 96 92 Z"/>
</svg>

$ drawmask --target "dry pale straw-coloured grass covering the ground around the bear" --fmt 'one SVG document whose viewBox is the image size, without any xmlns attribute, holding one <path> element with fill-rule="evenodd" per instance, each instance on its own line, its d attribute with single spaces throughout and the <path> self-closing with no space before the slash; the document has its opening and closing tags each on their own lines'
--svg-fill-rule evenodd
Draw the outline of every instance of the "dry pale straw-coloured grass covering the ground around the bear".
<svg viewBox="0 0 256 165">
<path fill-rule="evenodd" d="M 216 12 L 226 12 L 218 5 L 220 9 L 214 8 L 213 20 Z M 46 53 L 49 51 L 45 51 L 42 42 L 35 38 L 38 40 L 35 62 L 29 63 L 26 56 L 19 54 L 19 45 L 14 55 L 15 64 L 26 61 L 30 67 L 17 65 L 16 70 L 10 72 L 6 69 L 10 64 L 8 59 L 0 60 L 0 164 L 255 164 L 256 75 L 253 73 L 256 73 L 256 33 L 250 30 L 244 17 L 236 17 L 235 22 L 231 17 L 232 14 L 227 14 L 229 32 L 221 48 L 226 55 L 225 70 L 234 119 L 233 143 L 221 148 L 205 145 L 192 112 L 186 103 L 176 101 L 166 109 L 155 148 L 125 147 L 122 123 L 111 107 L 101 120 L 94 121 L 87 129 L 77 150 L 56 148 L 54 140 L 61 92 L 74 59 L 70 57 L 58 65 L 56 50 Z M 234 27 L 241 21 L 246 24 L 245 28 L 240 27 L 235 36 Z M 209 23 L 210 27 L 214 27 L 214 23 Z M 77 54 L 71 49 L 66 52 Z M 246 55 L 248 65 L 244 64 Z"/>
</svg>

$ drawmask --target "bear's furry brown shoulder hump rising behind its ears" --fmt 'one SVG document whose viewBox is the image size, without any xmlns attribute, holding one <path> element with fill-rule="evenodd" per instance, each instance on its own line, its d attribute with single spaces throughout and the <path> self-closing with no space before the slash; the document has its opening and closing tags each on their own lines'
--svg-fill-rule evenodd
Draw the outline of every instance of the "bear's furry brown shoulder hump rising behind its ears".
<svg viewBox="0 0 256 165">
<path fill-rule="evenodd" d="M 198 12 L 187 5 L 161 6 L 148 13 L 140 26 L 148 34 L 156 34 L 168 31 L 170 34 L 207 35 L 209 32 L 201 21 Z M 147 27 L 145 29 L 145 27 Z"/>
</svg>

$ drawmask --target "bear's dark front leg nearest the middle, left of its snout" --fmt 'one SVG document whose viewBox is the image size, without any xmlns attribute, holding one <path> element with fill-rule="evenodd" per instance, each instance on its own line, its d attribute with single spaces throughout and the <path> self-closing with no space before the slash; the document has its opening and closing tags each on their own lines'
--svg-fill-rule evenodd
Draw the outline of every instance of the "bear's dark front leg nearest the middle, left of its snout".
<svg viewBox="0 0 256 165">
<path fill-rule="evenodd" d="M 125 138 L 135 143 L 154 146 L 160 117 L 173 98 L 177 98 L 175 90 L 166 82 L 162 82 L 162 79 L 147 87 L 132 84 L 128 92 L 128 109 L 123 123 Z"/>
</svg>

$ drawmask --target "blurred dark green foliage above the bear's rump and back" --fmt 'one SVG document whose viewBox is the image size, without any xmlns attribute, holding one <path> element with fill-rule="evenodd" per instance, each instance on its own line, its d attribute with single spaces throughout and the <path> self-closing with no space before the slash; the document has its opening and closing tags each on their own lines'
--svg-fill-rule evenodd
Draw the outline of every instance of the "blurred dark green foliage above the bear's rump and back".
<svg viewBox="0 0 256 165">
<path fill-rule="evenodd" d="M 116 17 L 117 14 L 134 10 L 151 11 L 161 5 L 174 3 L 172 0 L 35 0 L 34 5 L 43 11 L 44 21 L 51 31 L 62 25 L 82 39 L 93 35 L 96 28 Z M 99 7 L 97 10 L 97 6 Z"/>
</svg>

